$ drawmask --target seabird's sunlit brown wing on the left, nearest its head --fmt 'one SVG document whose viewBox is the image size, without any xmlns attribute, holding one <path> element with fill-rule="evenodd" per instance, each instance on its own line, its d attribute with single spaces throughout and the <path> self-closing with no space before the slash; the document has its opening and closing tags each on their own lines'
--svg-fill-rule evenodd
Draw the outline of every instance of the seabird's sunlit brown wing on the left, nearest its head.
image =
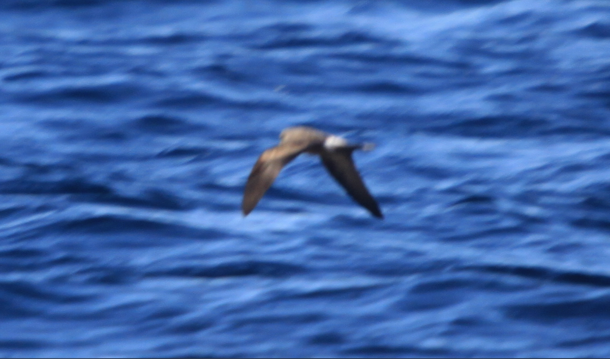
<svg viewBox="0 0 610 359">
<path fill-rule="evenodd" d="M 275 178 L 286 164 L 303 152 L 306 145 L 279 145 L 264 151 L 254 164 L 243 191 L 242 212 L 248 216 L 260 198 L 271 187 Z"/>
</svg>

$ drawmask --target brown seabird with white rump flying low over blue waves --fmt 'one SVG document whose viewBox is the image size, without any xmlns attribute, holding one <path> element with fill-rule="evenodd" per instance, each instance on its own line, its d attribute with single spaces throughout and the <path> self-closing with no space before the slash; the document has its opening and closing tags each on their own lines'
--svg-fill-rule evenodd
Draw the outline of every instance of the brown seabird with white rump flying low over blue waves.
<svg viewBox="0 0 610 359">
<path fill-rule="evenodd" d="M 268 148 L 257 159 L 243 191 L 242 212 L 248 214 L 271 187 L 282 168 L 301 153 L 320 156 L 322 164 L 348 195 L 373 216 L 383 218 L 381 209 L 367 187 L 352 159 L 355 150 L 371 150 L 372 143 L 350 144 L 343 137 L 335 136 L 309 126 L 284 129 L 279 135 L 279 145 Z"/>
</svg>

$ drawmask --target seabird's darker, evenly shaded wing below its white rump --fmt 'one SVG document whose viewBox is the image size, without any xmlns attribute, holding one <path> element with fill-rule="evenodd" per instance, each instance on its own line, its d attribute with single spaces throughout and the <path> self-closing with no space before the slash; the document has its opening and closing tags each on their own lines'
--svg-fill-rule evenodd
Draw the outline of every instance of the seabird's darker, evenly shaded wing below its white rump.
<svg viewBox="0 0 610 359">
<path fill-rule="evenodd" d="M 383 218 L 375 198 L 368 192 L 362 178 L 356 170 L 351 158 L 353 149 L 323 151 L 320 155 L 322 163 L 331 175 L 345 188 L 347 193 L 375 217 Z"/>
</svg>

